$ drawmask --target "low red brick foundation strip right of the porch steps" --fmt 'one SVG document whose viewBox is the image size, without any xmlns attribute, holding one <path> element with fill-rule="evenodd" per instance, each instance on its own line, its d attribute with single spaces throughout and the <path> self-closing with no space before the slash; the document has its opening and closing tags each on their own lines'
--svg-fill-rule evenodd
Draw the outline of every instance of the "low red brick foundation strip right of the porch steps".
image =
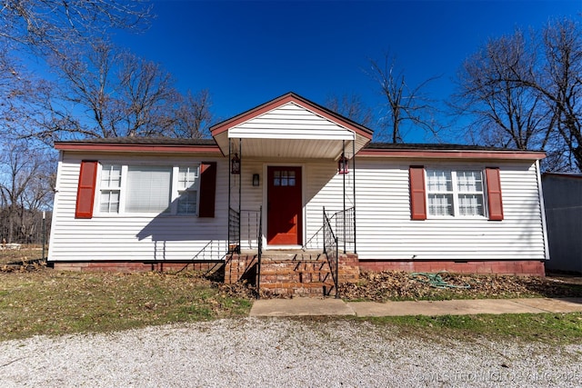
<svg viewBox="0 0 582 388">
<path fill-rule="evenodd" d="M 491 261 L 386 261 L 360 260 L 362 271 L 447 271 L 455 274 L 511 274 L 545 276 L 544 262 L 539 260 L 491 260 Z"/>
</svg>

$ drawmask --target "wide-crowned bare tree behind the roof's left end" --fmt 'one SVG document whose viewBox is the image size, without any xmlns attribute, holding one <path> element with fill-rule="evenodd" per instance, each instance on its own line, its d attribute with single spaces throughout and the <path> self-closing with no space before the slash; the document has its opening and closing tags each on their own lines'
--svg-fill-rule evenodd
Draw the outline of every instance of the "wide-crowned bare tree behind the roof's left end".
<svg viewBox="0 0 582 388">
<path fill-rule="evenodd" d="M 174 81 L 153 62 L 95 41 L 55 55 L 58 80 L 36 84 L 28 112 L 33 125 L 21 137 L 47 144 L 86 137 L 157 136 L 172 127 Z M 25 132 L 26 131 L 26 132 Z"/>
</svg>

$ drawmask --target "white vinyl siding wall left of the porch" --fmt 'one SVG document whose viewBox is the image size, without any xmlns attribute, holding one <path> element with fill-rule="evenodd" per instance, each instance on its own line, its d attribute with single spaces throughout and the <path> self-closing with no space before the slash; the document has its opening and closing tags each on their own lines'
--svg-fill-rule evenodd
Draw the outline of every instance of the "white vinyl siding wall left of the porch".
<svg viewBox="0 0 582 388">
<path fill-rule="evenodd" d="M 75 219 L 76 190 L 81 160 L 115 165 L 192 165 L 192 156 L 154 156 L 64 153 L 59 163 L 55 211 L 49 246 L 51 261 L 223 260 L 226 255 L 228 179 L 226 158 L 202 155 L 217 162 L 216 215 L 198 218 L 172 214 L 100 214 Z M 177 169 L 177 167 L 176 167 Z M 177 172 L 176 172 L 177 182 Z M 95 195 L 95 203 L 98 196 Z M 122 188 L 125 185 L 122 177 Z M 173 196 L 176 194 L 173 194 Z M 172 199 L 173 204 L 176 198 Z"/>
</svg>

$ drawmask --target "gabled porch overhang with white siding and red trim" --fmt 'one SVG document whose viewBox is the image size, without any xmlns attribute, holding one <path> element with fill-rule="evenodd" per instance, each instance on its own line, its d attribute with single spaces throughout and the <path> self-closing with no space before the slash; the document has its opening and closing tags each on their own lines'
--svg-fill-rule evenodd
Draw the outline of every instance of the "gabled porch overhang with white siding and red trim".
<svg viewBox="0 0 582 388">
<path fill-rule="evenodd" d="M 241 139 L 246 157 L 332 158 L 356 153 L 372 131 L 294 94 L 282 95 L 210 128 L 223 154 Z M 239 142 L 235 142 L 237 150 Z M 232 149 L 231 149 L 232 150 Z"/>
</svg>

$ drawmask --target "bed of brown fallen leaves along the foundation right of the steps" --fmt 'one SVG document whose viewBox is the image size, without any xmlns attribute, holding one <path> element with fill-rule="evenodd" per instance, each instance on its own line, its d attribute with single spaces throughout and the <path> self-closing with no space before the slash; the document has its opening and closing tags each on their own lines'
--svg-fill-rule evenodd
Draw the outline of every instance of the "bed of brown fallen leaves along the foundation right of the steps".
<svg viewBox="0 0 582 388">
<path fill-rule="evenodd" d="M 340 284 L 339 292 L 344 299 L 376 302 L 582 296 L 582 284 L 562 278 L 448 273 L 440 276 L 442 284 L 437 286 L 425 276 L 406 272 L 364 272 L 358 283 Z"/>
</svg>

